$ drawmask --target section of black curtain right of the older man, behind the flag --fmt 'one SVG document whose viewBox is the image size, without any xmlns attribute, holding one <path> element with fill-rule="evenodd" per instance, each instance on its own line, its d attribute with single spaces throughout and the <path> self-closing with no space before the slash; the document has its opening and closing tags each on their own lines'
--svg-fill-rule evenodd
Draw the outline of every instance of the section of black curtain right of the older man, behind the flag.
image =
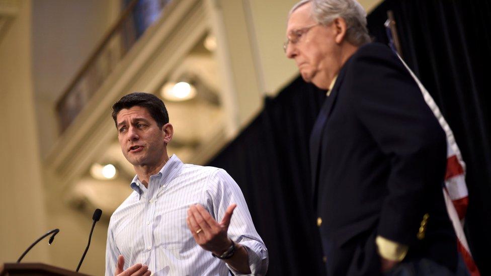
<svg viewBox="0 0 491 276">
<path fill-rule="evenodd" d="M 387 0 L 368 17 L 387 43 L 384 21 L 393 11 L 406 61 L 442 111 L 467 165 L 469 207 L 465 231 L 482 275 L 491 275 L 491 2 Z"/>
</svg>

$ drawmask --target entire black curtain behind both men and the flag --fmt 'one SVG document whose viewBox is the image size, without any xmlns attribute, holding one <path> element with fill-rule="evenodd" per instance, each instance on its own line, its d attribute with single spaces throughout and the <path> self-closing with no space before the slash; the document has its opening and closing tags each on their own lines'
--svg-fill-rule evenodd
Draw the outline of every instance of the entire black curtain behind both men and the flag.
<svg viewBox="0 0 491 276">
<path fill-rule="evenodd" d="M 491 149 L 484 66 L 491 64 L 491 2 L 386 0 L 368 16 L 376 41 L 393 11 L 402 55 L 440 107 L 467 164 L 465 230 L 482 275 L 491 274 Z M 237 181 L 270 255 L 269 275 L 323 275 L 312 211 L 308 139 L 324 93 L 301 78 L 285 87 L 209 165 Z"/>
</svg>

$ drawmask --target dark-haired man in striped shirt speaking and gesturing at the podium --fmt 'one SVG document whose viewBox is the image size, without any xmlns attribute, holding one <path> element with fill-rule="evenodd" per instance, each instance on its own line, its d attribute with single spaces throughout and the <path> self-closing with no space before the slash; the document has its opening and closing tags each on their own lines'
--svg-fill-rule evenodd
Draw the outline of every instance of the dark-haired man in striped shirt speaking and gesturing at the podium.
<svg viewBox="0 0 491 276">
<path fill-rule="evenodd" d="M 264 275 L 268 251 L 237 183 L 168 156 L 174 131 L 163 102 L 132 93 L 112 116 L 136 176 L 111 216 L 106 275 Z"/>
</svg>

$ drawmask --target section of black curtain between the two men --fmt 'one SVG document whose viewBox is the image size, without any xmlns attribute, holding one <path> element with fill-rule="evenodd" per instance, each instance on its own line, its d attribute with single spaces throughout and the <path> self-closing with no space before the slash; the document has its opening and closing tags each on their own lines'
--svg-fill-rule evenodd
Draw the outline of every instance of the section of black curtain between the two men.
<svg viewBox="0 0 491 276">
<path fill-rule="evenodd" d="M 209 165 L 240 186 L 269 251 L 269 275 L 321 275 L 308 139 L 325 94 L 297 78 Z"/>
</svg>

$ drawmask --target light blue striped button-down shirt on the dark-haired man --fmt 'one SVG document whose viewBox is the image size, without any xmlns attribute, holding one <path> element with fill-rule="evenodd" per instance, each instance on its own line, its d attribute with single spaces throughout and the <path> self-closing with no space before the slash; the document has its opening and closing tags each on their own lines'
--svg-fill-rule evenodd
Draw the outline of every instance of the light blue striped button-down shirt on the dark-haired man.
<svg viewBox="0 0 491 276">
<path fill-rule="evenodd" d="M 118 255 L 124 269 L 135 263 L 148 265 L 155 275 L 227 275 L 226 263 L 214 258 L 194 240 L 187 224 L 187 211 L 200 204 L 221 221 L 227 207 L 235 203 L 228 236 L 249 254 L 252 274 L 268 269 L 268 250 L 251 219 L 237 183 L 215 167 L 184 164 L 176 155 L 155 175 L 148 188 L 135 176 L 133 193 L 111 216 L 106 245 L 106 276 L 114 275 Z"/>
</svg>

